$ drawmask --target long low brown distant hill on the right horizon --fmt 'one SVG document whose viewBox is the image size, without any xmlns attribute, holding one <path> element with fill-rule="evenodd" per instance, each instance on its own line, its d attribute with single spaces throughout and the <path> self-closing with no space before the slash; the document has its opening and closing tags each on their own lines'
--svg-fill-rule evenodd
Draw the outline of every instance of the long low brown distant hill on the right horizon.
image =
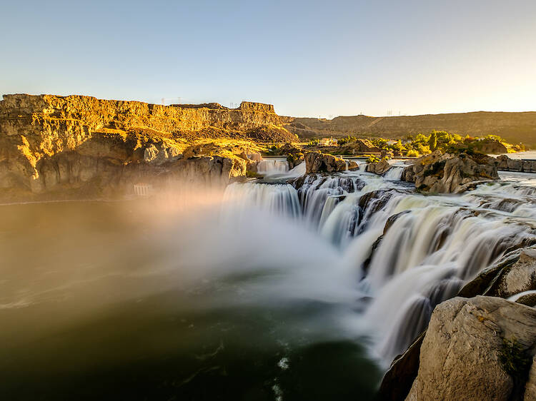
<svg viewBox="0 0 536 401">
<path fill-rule="evenodd" d="M 287 129 L 301 138 L 347 135 L 402 138 L 435 129 L 462 136 L 485 136 L 491 133 L 502 136 L 511 143 L 522 142 L 536 146 L 536 111 L 475 111 L 391 117 L 339 116 L 332 120 L 294 118 Z"/>
</svg>

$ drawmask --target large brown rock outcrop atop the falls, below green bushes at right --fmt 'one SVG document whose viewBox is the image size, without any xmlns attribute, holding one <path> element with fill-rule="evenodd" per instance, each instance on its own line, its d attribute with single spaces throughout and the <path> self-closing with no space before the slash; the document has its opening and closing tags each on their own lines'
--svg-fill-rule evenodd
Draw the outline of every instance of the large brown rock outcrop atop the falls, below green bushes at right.
<svg viewBox="0 0 536 401">
<path fill-rule="evenodd" d="M 476 183 L 499 179 L 495 158 L 482 153 L 453 155 L 435 151 L 418 158 L 402 173 L 402 181 L 430 193 L 460 193 Z"/>
</svg>

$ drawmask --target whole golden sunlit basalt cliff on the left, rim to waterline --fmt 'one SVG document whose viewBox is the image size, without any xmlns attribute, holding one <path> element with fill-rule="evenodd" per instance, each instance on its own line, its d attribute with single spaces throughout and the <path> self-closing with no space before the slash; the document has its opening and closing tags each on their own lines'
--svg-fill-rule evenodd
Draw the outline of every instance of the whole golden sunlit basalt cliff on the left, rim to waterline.
<svg viewBox="0 0 536 401">
<path fill-rule="evenodd" d="M 148 176 L 228 183 L 246 174 L 248 155 L 258 153 L 254 143 L 297 140 L 284 128 L 288 121 L 263 103 L 161 106 L 4 95 L 1 193 L 31 198 L 54 191 L 124 192 Z"/>
</svg>

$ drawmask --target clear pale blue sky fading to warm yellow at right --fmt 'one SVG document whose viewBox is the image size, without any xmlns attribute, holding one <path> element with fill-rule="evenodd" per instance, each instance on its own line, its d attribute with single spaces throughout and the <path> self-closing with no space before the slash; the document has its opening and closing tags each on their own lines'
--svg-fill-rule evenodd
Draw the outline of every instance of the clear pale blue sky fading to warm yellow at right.
<svg viewBox="0 0 536 401">
<path fill-rule="evenodd" d="M 0 24 L 0 93 L 291 116 L 536 110 L 534 0 L 21 0 Z"/>
</svg>

